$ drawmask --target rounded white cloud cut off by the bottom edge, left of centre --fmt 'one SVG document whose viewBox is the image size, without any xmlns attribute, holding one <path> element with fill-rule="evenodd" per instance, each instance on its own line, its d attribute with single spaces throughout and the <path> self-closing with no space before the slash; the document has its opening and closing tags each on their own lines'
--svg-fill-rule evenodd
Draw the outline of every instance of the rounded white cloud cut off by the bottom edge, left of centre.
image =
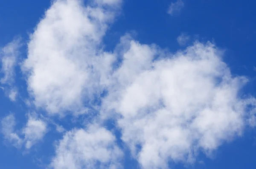
<svg viewBox="0 0 256 169">
<path fill-rule="evenodd" d="M 120 169 L 118 161 L 122 152 L 116 146 L 115 137 L 105 128 L 91 125 L 87 130 L 74 129 L 59 141 L 54 169 Z"/>
</svg>

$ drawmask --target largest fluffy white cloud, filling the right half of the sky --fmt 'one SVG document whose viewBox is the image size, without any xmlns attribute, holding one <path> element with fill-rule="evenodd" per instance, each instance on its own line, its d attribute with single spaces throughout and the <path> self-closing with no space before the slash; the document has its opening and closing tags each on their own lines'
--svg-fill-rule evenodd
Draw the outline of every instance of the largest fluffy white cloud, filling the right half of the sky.
<svg viewBox="0 0 256 169">
<path fill-rule="evenodd" d="M 171 55 L 131 40 L 123 53 L 102 114 L 121 115 L 122 140 L 143 168 L 193 162 L 199 150 L 209 155 L 241 135 L 248 101 L 238 93 L 247 79 L 231 75 L 214 45 Z"/>
</svg>

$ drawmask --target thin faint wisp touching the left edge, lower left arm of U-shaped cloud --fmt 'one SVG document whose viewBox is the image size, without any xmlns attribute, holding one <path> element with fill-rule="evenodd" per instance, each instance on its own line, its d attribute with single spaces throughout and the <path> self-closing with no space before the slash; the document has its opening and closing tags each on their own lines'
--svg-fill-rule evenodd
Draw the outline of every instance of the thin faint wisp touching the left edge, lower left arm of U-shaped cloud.
<svg viewBox="0 0 256 169">
<path fill-rule="evenodd" d="M 9 114 L 1 120 L 1 132 L 4 138 L 19 147 L 22 144 L 22 139 L 15 132 L 15 126 L 16 121 L 13 114 Z"/>
</svg>

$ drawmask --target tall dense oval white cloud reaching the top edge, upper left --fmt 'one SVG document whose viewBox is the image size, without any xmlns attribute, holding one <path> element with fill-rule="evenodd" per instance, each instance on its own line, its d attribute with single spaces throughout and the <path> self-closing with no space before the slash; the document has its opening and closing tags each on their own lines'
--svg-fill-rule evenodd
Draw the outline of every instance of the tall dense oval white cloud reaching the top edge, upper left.
<svg viewBox="0 0 256 169">
<path fill-rule="evenodd" d="M 95 2 L 56 0 L 31 36 L 23 71 L 35 105 L 49 113 L 86 111 L 83 101 L 101 91 L 110 71 L 113 56 L 99 47 L 119 0 Z"/>
</svg>

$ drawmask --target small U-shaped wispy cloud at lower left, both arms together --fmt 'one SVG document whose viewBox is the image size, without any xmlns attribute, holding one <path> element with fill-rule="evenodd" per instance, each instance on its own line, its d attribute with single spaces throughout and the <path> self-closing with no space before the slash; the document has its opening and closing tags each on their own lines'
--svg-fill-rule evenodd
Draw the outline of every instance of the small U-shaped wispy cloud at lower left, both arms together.
<svg viewBox="0 0 256 169">
<path fill-rule="evenodd" d="M 22 132 L 15 130 L 16 121 L 13 114 L 7 115 L 1 121 L 1 131 L 4 138 L 19 148 L 25 144 L 26 149 L 30 149 L 34 144 L 40 141 L 47 132 L 47 124 L 35 117 L 29 115 L 26 126 Z"/>
</svg>

